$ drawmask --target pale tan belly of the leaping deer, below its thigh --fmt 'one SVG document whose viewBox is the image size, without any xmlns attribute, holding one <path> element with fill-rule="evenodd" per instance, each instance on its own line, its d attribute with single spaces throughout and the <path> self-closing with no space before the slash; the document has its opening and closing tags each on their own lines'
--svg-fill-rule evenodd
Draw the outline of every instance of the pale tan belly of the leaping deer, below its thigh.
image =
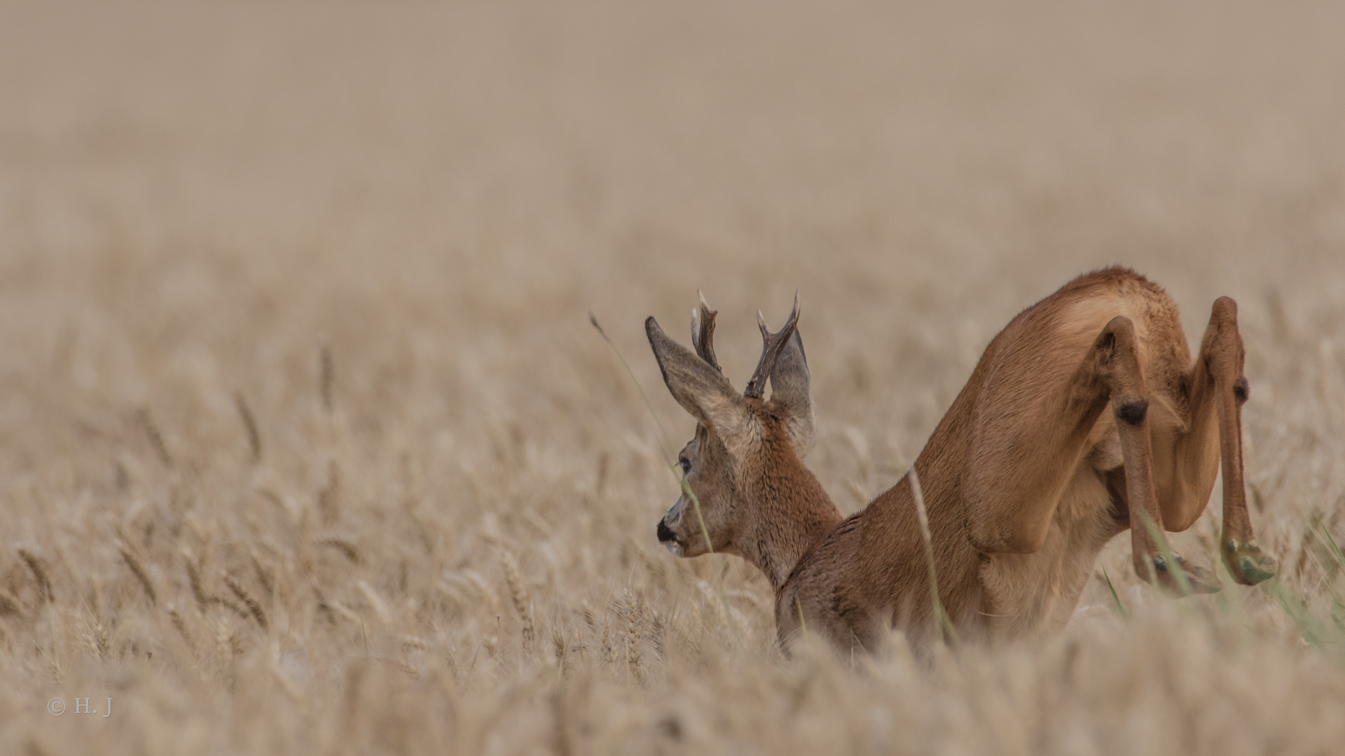
<svg viewBox="0 0 1345 756">
<path fill-rule="evenodd" d="M 981 566 L 985 613 L 1001 639 L 1044 636 L 1069 621 L 1092 574 L 1098 552 L 1116 534 L 1111 495 L 1102 476 L 1079 465 L 1065 488 L 1041 549 L 991 554 Z"/>
</svg>

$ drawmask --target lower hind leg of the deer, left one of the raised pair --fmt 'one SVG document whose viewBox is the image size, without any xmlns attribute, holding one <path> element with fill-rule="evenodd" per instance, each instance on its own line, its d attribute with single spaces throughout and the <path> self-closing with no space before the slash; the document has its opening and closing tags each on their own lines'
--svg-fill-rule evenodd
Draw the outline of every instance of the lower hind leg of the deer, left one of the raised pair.
<svg viewBox="0 0 1345 756">
<path fill-rule="evenodd" d="M 1116 416 L 1135 573 L 1173 593 L 1219 591 L 1219 581 L 1209 570 L 1188 565 L 1181 557 L 1176 557 L 1177 564 L 1169 564 L 1154 538 L 1163 531 L 1163 507 L 1158 504 L 1154 484 L 1149 391 L 1139 367 L 1135 328 L 1128 317 L 1119 316 L 1107 323 L 1084 362 L 1084 371 L 1093 373 L 1106 386 Z M 1184 578 L 1178 577 L 1178 572 Z"/>
</svg>

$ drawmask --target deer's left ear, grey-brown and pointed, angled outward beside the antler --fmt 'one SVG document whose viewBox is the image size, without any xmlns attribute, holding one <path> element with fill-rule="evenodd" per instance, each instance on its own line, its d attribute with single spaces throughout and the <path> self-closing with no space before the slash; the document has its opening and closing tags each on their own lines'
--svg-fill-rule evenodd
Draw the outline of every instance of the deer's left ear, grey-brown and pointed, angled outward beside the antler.
<svg viewBox="0 0 1345 756">
<path fill-rule="evenodd" d="M 713 429 L 730 449 L 746 430 L 751 413 L 733 385 L 722 373 L 659 328 L 654 317 L 644 322 L 644 332 L 659 361 L 663 382 L 682 409 L 706 428 Z"/>
</svg>

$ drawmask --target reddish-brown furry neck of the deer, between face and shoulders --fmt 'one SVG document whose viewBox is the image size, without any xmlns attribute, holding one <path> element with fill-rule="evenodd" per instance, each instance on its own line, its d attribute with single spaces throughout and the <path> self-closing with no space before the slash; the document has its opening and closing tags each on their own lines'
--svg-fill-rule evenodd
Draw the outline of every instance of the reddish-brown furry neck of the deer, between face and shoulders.
<svg viewBox="0 0 1345 756">
<path fill-rule="evenodd" d="M 779 593 L 794 568 L 841 522 L 841 513 L 812 471 L 787 445 L 752 482 L 756 515 L 737 538 L 742 558 Z"/>
</svg>

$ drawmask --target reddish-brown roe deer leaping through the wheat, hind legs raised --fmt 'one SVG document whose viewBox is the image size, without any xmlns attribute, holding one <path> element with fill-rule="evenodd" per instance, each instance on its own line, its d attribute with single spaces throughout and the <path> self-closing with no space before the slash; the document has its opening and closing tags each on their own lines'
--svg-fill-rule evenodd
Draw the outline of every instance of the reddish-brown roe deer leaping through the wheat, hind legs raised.
<svg viewBox="0 0 1345 756">
<path fill-rule="evenodd" d="M 839 650 L 872 650 L 893 627 L 927 638 L 937 626 L 909 475 L 842 521 L 802 461 L 814 432 L 798 295 L 779 332 L 759 315 L 764 347 L 741 395 L 716 361 L 714 316 L 701 297 L 694 352 L 644 324 L 663 381 L 698 422 L 679 463 L 705 531 L 683 494 L 659 541 L 694 557 L 709 539 L 761 569 L 781 643 L 800 627 Z M 1243 361 L 1233 300 L 1215 301 L 1193 363 L 1171 299 L 1124 268 L 1080 276 L 1014 317 L 915 463 L 959 635 L 1060 630 L 1098 552 L 1127 527 L 1142 578 L 1219 591 L 1209 570 L 1166 561 L 1150 527 L 1190 527 L 1220 460 L 1224 562 L 1244 585 L 1274 576 L 1243 490 Z"/>
</svg>

